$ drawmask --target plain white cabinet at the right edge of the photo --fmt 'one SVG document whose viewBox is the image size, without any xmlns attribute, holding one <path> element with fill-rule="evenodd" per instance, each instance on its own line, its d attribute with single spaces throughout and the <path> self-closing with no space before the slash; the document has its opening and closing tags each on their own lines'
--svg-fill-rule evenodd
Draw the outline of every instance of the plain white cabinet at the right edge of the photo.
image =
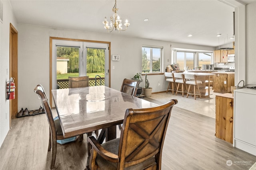
<svg viewBox="0 0 256 170">
<path fill-rule="evenodd" d="M 256 155 L 256 90 L 234 90 L 233 146 Z"/>
</svg>

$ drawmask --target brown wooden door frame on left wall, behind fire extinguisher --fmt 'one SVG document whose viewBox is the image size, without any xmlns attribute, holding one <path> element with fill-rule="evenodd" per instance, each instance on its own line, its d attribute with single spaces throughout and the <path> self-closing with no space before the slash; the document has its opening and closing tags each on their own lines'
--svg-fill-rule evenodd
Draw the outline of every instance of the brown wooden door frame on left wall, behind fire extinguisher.
<svg viewBox="0 0 256 170">
<path fill-rule="evenodd" d="M 15 99 L 10 100 L 10 127 L 11 120 L 16 118 L 18 113 L 18 31 L 10 23 L 10 56 L 9 56 L 10 77 L 15 78 Z"/>
</svg>

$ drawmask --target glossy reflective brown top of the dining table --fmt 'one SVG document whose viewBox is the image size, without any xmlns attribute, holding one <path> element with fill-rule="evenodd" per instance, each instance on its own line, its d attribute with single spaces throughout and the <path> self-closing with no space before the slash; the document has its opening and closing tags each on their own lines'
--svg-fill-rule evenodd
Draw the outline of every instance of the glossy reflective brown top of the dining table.
<svg viewBox="0 0 256 170">
<path fill-rule="evenodd" d="M 52 90 L 64 137 L 119 125 L 127 108 L 158 106 L 106 86 Z"/>
</svg>

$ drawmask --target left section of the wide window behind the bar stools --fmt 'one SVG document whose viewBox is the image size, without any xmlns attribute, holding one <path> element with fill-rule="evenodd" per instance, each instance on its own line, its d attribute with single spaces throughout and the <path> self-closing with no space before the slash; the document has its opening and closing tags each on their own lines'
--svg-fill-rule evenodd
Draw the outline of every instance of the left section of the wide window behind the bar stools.
<svg viewBox="0 0 256 170">
<path fill-rule="evenodd" d="M 193 69 L 194 68 L 194 52 L 177 51 L 177 63 L 180 66 L 180 70 Z"/>
</svg>

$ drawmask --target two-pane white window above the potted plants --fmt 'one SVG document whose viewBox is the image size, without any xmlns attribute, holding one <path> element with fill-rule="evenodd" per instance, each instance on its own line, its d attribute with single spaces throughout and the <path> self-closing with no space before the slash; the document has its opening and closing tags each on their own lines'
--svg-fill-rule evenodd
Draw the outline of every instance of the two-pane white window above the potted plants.
<svg viewBox="0 0 256 170">
<path fill-rule="evenodd" d="M 163 47 L 142 47 L 142 73 L 162 71 Z"/>
</svg>

